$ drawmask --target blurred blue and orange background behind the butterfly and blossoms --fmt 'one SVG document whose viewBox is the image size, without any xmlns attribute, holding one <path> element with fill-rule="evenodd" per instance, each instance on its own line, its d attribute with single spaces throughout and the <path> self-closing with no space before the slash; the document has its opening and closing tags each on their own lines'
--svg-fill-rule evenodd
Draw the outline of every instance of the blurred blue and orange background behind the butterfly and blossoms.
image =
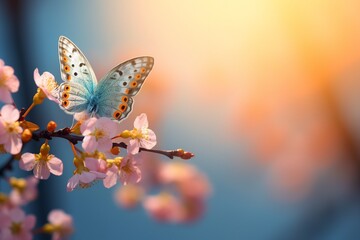
<svg viewBox="0 0 360 240">
<path fill-rule="evenodd" d="M 2 0 L 0 58 L 20 79 L 19 108 L 36 91 L 35 68 L 61 82 L 60 35 L 98 79 L 153 56 L 124 128 L 147 113 L 157 147 L 194 152 L 189 163 L 212 186 L 198 221 L 159 223 L 118 207 L 100 184 L 67 193 L 72 155 L 55 140 L 64 174 L 41 182 L 29 212 L 39 222 L 53 208 L 72 214 L 72 239 L 359 239 L 359 9 L 356 0 Z M 29 120 L 72 123 L 50 101 Z"/>
</svg>

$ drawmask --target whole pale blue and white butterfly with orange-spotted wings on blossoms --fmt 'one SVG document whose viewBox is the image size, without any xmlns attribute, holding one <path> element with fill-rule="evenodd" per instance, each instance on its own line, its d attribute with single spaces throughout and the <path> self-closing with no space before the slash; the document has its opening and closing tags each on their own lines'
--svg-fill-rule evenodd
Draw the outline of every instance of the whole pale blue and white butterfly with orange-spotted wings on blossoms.
<svg viewBox="0 0 360 240">
<path fill-rule="evenodd" d="M 61 78 L 60 107 L 69 114 L 85 112 L 91 117 L 126 118 L 133 97 L 149 75 L 154 59 L 144 56 L 130 59 L 110 70 L 100 81 L 80 49 L 70 39 L 59 38 Z"/>
</svg>

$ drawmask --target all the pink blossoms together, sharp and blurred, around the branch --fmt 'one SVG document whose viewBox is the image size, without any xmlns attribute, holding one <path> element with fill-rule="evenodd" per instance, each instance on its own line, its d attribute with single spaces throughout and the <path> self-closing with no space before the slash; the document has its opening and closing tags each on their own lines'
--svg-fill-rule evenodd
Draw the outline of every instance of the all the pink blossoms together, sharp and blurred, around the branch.
<svg viewBox="0 0 360 240">
<path fill-rule="evenodd" d="M 149 129 L 146 114 L 140 114 L 134 121 L 132 130 L 121 130 L 117 121 L 109 118 L 90 117 L 84 113 L 75 114 L 77 120 L 71 128 L 57 129 L 57 124 L 50 121 L 45 130 L 26 120 L 34 106 L 45 99 L 56 103 L 58 100 L 58 84 L 51 73 L 39 74 L 34 71 L 34 80 L 38 90 L 33 97 L 31 106 L 18 110 L 13 103 L 11 93 L 19 88 L 19 80 L 14 70 L 5 66 L 0 60 L 0 153 L 11 154 L 0 168 L 3 177 L 13 191 L 8 195 L 0 195 L 0 235 L 14 236 L 1 239 L 30 239 L 35 225 L 33 215 L 26 216 L 20 206 L 36 198 L 36 186 L 39 180 L 46 180 L 50 174 L 62 175 L 63 162 L 51 154 L 50 140 L 54 137 L 66 139 L 71 146 L 73 158 L 73 175 L 67 183 L 67 191 L 76 188 L 88 188 L 94 182 L 101 181 L 105 188 L 111 188 L 117 183 L 122 186 L 117 193 L 117 199 L 124 207 L 133 207 L 140 201 L 151 216 L 158 220 L 184 222 L 201 215 L 204 200 L 210 187 L 206 178 L 195 168 L 185 163 L 157 164 L 156 171 L 143 167 L 147 154 L 153 152 L 169 158 L 179 157 L 190 159 L 194 155 L 182 149 L 173 151 L 153 150 L 156 145 L 156 135 Z M 22 152 L 23 145 L 31 140 L 43 140 L 39 152 Z M 77 144 L 81 142 L 81 148 Z M 120 149 L 126 149 L 121 151 Z M 6 178 L 5 172 L 10 169 L 14 160 L 25 171 L 32 171 L 34 177 L 26 180 Z M 150 161 L 150 160 L 149 160 Z M 146 166 L 146 164 L 145 164 Z M 144 184 L 144 172 L 156 176 L 152 184 Z M 163 187 L 175 186 L 180 196 L 177 200 L 172 193 L 162 191 L 157 196 L 145 196 L 146 185 Z M 4 220 L 3 220 L 4 219 Z M 73 231 L 72 218 L 60 210 L 49 214 L 49 223 L 36 232 L 52 233 L 53 239 L 62 239 Z M 16 238 L 16 236 L 21 236 Z"/>
</svg>

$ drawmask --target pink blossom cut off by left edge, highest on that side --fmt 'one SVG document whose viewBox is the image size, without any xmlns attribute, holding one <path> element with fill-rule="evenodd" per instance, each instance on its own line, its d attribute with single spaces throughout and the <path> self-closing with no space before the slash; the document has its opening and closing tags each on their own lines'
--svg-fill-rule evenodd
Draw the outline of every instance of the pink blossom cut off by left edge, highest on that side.
<svg viewBox="0 0 360 240">
<path fill-rule="evenodd" d="M 11 93 L 19 90 L 20 82 L 14 75 L 14 69 L 5 66 L 4 61 L 0 59 L 0 101 L 12 103 Z"/>
</svg>

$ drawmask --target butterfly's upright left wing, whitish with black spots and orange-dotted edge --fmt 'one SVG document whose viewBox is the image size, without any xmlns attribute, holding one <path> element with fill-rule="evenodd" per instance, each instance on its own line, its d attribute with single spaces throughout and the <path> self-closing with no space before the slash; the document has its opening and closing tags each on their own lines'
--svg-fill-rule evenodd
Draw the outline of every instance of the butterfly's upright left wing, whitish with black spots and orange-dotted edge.
<svg viewBox="0 0 360 240">
<path fill-rule="evenodd" d="M 59 98 L 65 112 L 74 114 L 87 109 L 97 80 L 94 71 L 80 49 L 70 39 L 59 38 L 59 62 L 61 78 Z"/>
</svg>

